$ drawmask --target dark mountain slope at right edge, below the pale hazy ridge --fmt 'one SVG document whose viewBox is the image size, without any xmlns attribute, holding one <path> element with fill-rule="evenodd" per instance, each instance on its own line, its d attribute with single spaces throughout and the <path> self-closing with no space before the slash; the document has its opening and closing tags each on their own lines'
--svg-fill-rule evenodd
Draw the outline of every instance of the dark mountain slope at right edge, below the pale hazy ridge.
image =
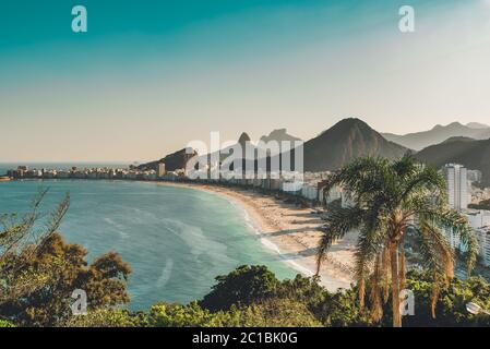
<svg viewBox="0 0 490 349">
<path fill-rule="evenodd" d="M 490 185 L 490 140 L 443 142 L 422 149 L 415 157 L 437 167 L 454 163 L 471 170 L 480 170 L 482 183 Z"/>
</svg>

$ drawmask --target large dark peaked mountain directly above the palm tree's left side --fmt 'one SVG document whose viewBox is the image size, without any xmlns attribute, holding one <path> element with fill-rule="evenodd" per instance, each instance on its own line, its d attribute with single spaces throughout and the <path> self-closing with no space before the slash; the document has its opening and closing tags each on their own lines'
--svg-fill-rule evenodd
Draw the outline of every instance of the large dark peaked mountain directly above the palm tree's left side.
<svg viewBox="0 0 490 349">
<path fill-rule="evenodd" d="M 409 149 L 386 141 L 362 120 L 350 118 L 306 142 L 303 152 L 306 171 L 324 171 L 368 155 L 395 159 Z"/>
</svg>

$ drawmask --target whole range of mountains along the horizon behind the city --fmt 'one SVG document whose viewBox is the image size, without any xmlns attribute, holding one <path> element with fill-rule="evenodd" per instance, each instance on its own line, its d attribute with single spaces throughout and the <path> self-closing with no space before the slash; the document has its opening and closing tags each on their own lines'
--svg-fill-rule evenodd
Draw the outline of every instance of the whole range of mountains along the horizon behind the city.
<svg viewBox="0 0 490 349">
<path fill-rule="evenodd" d="M 483 173 L 485 184 L 490 185 L 490 128 L 481 123 L 469 123 L 463 125 L 453 122 L 449 125 L 437 125 L 430 131 L 410 133 L 406 135 L 395 135 L 390 133 L 379 133 L 370 128 L 366 122 L 357 118 L 344 119 L 332 128 L 323 131 L 318 136 L 303 144 L 303 170 L 325 171 L 336 170 L 354 159 L 362 156 L 381 156 L 389 159 L 396 159 L 404 154 L 411 153 L 416 158 L 434 166 L 443 166 L 447 163 L 458 163 L 469 169 L 478 169 Z M 263 142 L 294 142 L 299 137 L 287 133 L 286 129 L 272 131 L 268 135 L 261 137 Z M 244 145 L 251 142 L 250 136 L 242 132 L 238 144 Z M 255 156 L 256 146 L 252 145 Z M 219 159 L 223 161 L 232 152 L 231 147 L 220 151 Z M 244 147 L 242 147 L 244 149 Z M 418 149 L 415 152 L 413 149 Z M 290 151 L 294 163 L 295 151 Z M 166 156 L 165 158 L 141 165 L 140 168 L 154 168 L 163 161 L 167 170 L 175 170 L 186 167 L 191 155 L 184 149 Z M 210 159 L 211 154 L 201 155 L 203 160 Z M 279 160 L 284 157 L 284 149 Z M 251 158 L 247 159 L 242 155 L 242 166 L 250 165 Z M 267 157 L 267 168 L 271 159 Z M 254 161 L 258 166 L 258 161 Z"/>
</svg>

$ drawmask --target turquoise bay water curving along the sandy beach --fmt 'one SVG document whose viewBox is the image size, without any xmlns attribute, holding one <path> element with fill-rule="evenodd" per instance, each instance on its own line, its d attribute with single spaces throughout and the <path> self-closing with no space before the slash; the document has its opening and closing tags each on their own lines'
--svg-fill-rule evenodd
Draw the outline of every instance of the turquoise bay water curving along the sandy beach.
<svg viewBox="0 0 490 349">
<path fill-rule="evenodd" d="M 218 195 L 144 182 L 11 181 L 0 182 L 0 214 L 25 212 L 39 188 L 50 189 L 46 212 L 70 192 L 60 232 L 84 245 L 89 261 L 117 251 L 130 263 L 133 310 L 200 299 L 217 275 L 242 264 L 265 264 L 279 278 L 297 274 L 266 250 L 242 209 Z"/>
</svg>

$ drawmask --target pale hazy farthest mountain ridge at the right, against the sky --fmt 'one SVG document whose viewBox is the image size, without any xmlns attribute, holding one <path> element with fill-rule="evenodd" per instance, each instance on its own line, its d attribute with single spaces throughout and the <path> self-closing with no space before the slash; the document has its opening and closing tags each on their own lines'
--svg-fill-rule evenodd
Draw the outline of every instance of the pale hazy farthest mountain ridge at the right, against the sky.
<svg viewBox="0 0 490 349">
<path fill-rule="evenodd" d="M 396 142 L 410 149 L 421 151 L 430 145 L 439 144 L 451 137 L 470 137 L 475 140 L 488 140 L 490 139 L 490 128 L 479 124 L 480 128 L 476 128 L 477 124 L 470 123 L 468 125 L 461 124 L 459 122 L 453 122 L 449 125 L 438 124 L 432 130 L 408 133 L 405 135 L 397 135 L 393 133 L 382 133 L 382 135 L 392 142 Z"/>
</svg>

